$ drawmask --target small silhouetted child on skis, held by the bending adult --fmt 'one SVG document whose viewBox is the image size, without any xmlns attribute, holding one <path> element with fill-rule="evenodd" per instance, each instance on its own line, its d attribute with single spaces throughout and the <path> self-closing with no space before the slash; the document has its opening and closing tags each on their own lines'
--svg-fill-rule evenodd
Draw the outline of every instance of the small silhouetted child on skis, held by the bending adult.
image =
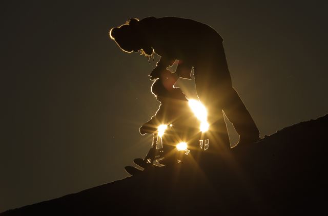
<svg viewBox="0 0 328 216">
<path fill-rule="evenodd" d="M 156 134 L 159 125 L 168 125 L 162 136 L 165 159 L 160 163 L 163 164 L 176 162 L 173 157 L 176 144 L 187 142 L 199 132 L 200 122 L 190 109 L 188 99 L 180 88 L 173 87 L 177 79 L 175 74 L 165 70 L 161 72 L 160 78 L 154 81 L 151 90 L 161 103 L 156 114 L 140 127 L 140 134 L 145 135 Z"/>
</svg>

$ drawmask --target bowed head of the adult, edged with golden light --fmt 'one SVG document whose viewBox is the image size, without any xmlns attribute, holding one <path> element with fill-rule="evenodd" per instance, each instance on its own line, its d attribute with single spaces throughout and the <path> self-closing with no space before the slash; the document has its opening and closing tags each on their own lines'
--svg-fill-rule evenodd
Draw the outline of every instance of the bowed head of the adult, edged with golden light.
<svg viewBox="0 0 328 216">
<path fill-rule="evenodd" d="M 154 50 L 147 40 L 147 32 L 145 31 L 144 25 L 137 18 L 131 18 L 124 25 L 112 28 L 109 31 L 109 36 L 125 52 L 131 53 L 141 50 L 141 54 L 151 56 Z"/>
</svg>

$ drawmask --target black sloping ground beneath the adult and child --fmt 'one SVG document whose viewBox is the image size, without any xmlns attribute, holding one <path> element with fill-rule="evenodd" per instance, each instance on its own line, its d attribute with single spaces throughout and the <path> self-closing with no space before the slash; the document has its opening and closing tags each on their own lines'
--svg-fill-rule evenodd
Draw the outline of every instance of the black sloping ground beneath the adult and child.
<svg viewBox="0 0 328 216">
<path fill-rule="evenodd" d="M 113 213 L 283 215 L 326 212 L 328 115 L 260 142 L 176 167 L 156 167 L 2 215 Z"/>
</svg>

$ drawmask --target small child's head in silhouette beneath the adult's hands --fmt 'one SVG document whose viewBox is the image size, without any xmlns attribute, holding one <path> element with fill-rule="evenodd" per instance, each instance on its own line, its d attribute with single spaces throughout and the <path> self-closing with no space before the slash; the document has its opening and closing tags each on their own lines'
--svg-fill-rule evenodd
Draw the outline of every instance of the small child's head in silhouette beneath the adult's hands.
<svg viewBox="0 0 328 216">
<path fill-rule="evenodd" d="M 160 74 L 160 78 L 153 82 L 152 93 L 158 101 L 162 101 L 165 98 L 176 98 L 175 94 L 178 91 L 181 92 L 180 89 L 173 87 L 177 79 L 177 76 L 173 75 L 170 71 L 165 70 Z"/>
</svg>

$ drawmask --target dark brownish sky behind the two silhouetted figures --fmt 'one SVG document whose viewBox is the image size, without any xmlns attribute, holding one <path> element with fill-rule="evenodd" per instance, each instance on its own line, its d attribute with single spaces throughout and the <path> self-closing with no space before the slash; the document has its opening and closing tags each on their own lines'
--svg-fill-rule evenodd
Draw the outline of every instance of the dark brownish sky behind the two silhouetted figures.
<svg viewBox="0 0 328 216">
<path fill-rule="evenodd" d="M 147 153 L 154 63 L 108 37 L 130 17 L 217 30 L 261 135 L 327 113 L 327 3 L 257 2 L 1 3 L 0 212 L 124 178 Z"/>
</svg>

